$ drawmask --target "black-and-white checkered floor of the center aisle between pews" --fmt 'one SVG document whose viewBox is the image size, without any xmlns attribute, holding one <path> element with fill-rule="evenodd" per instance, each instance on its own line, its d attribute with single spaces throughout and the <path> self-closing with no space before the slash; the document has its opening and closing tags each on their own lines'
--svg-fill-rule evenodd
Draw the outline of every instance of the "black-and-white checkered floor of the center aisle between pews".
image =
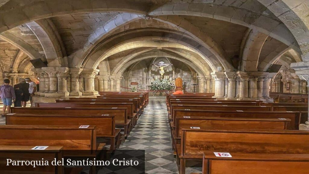
<svg viewBox="0 0 309 174">
<path fill-rule="evenodd" d="M 165 97 L 161 100 L 150 99 L 137 125 L 119 150 L 145 150 L 146 173 L 174 174 L 178 173 L 178 169 L 171 147 Z"/>
</svg>

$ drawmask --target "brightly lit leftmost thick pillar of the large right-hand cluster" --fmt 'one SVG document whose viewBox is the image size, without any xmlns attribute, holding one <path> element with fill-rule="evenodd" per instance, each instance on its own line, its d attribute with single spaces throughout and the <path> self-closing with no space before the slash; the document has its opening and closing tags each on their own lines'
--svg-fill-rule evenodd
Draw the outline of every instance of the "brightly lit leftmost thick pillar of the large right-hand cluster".
<svg viewBox="0 0 309 174">
<path fill-rule="evenodd" d="M 225 74 L 224 72 L 212 72 L 211 75 L 215 79 L 215 97 L 218 99 L 224 99 L 225 92 Z"/>
</svg>

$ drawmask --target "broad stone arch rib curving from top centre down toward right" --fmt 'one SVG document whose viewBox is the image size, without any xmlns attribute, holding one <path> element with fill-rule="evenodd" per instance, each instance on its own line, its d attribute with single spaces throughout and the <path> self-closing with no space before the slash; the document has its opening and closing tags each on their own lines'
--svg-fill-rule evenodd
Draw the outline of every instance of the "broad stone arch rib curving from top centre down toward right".
<svg viewBox="0 0 309 174">
<path fill-rule="evenodd" d="M 186 2 L 164 4 L 151 11 L 149 15 L 193 15 L 223 20 L 256 29 L 261 33 L 276 38 L 286 45 L 291 46 L 295 50 L 299 49 L 294 36 L 290 33 L 289 29 L 284 24 L 280 24 L 279 21 L 248 9 L 235 9 L 235 7 L 226 6 L 220 4 L 220 2 L 218 3 Z"/>
</svg>

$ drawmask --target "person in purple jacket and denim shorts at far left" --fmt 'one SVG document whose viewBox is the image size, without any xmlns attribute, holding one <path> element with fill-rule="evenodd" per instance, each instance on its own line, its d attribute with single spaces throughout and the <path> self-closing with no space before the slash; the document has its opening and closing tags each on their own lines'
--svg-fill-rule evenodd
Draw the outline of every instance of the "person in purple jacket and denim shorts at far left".
<svg viewBox="0 0 309 174">
<path fill-rule="evenodd" d="M 15 92 L 13 86 L 10 85 L 9 79 L 3 80 L 4 85 L 0 86 L 0 96 L 3 102 L 2 115 L 5 114 L 7 107 L 7 112 L 11 112 L 12 101 L 15 101 Z"/>
</svg>

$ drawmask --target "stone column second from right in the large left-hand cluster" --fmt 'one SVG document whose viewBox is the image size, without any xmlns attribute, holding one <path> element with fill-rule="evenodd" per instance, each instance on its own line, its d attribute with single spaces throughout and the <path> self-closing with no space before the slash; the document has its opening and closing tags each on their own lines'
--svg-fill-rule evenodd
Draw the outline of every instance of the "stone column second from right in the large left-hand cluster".
<svg viewBox="0 0 309 174">
<path fill-rule="evenodd" d="M 70 96 L 81 96 L 82 92 L 79 91 L 79 76 L 83 71 L 82 68 L 70 68 L 71 75 L 71 91 Z"/>
</svg>

